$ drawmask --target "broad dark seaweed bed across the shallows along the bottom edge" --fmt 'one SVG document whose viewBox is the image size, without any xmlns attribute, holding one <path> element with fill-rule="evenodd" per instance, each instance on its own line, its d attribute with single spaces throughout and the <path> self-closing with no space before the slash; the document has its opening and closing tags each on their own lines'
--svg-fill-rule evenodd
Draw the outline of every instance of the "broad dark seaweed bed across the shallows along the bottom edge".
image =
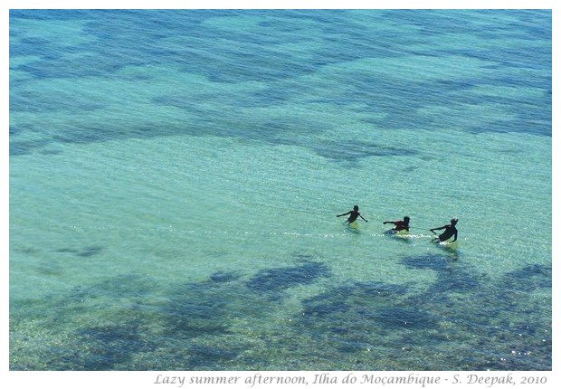
<svg viewBox="0 0 561 389">
<path fill-rule="evenodd" d="M 147 298 L 155 287 L 150 280 L 132 276 L 76 287 L 72 299 L 52 295 L 52 309 L 43 320 L 53 326 L 61 308 L 81 313 L 86 307 L 81 299 L 103 294 L 131 303 L 113 316 L 115 322 L 92 323 L 77 329 L 76 337 L 67 343 L 45 347 L 44 366 L 49 370 L 255 366 L 261 370 L 310 366 L 314 370 L 539 370 L 551 366 L 547 306 L 532 304 L 538 298 L 523 289 L 527 281 L 533 290 L 548 289 L 547 266 L 528 265 L 492 280 L 446 254 L 408 257 L 405 267 L 435 271 L 436 281 L 428 289 L 415 291 L 414 284 L 376 280 L 326 285 L 325 292 L 302 299 L 301 311 L 293 312 L 289 321 L 277 316 L 280 303 L 271 297 L 284 297 L 287 289 L 330 274 L 325 264 L 308 261 L 311 257 L 305 252 L 294 257 L 303 263 L 257 271 L 249 280 L 218 271 L 208 280 L 173 285 L 167 299 L 157 299 L 153 307 Z M 462 284 L 466 275 L 467 286 Z M 524 279 L 520 284 L 514 280 L 518 277 Z M 501 289 L 509 281 L 513 289 Z M 43 307 L 44 301 L 24 305 L 33 304 Z M 11 328 L 17 328 L 21 319 L 11 316 Z M 151 333 L 150 328 L 157 331 Z M 16 332 L 11 337 L 17 338 Z M 14 350 L 11 346 L 11 355 Z M 17 358 L 11 366 L 33 369 Z"/>
</svg>

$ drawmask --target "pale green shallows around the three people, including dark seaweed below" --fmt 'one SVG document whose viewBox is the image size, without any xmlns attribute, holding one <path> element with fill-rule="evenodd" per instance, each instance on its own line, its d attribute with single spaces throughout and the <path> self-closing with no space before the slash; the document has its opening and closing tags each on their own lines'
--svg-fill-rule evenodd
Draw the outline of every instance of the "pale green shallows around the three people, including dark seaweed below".
<svg viewBox="0 0 561 389">
<path fill-rule="evenodd" d="M 549 185 L 548 166 L 536 158 L 535 174 L 517 175 L 528 169 L 520 158 L 528 138 L 481 134 L 454 147 L 441 137 L 425 142 L 422 159 L 371 157 L 358 169 L 300 147 L 214 137 L 20 157 L 25 169 L 10 171 L 18 204 L 10 213 L 10 285 L 15 316 L 28 319 L 15 323 L 16 361 L 66 368 L 75 359 L 61 356 L 102 359 L 107 351 L 96 347 L 108 346 L 125 348 L 114 358 L 135 354 L 126 369 L 183 368 L 176 353 L 187 360 L 210 353 L 204 364 L 223 364 L 193 368 L 338 368 L 340 347 L 353 351 L 343 353 L 353 369 L 464 361 L 461 350 L 475 346 L 480 326 L 516 338 L 501 301 L 536 312 L 551 298 L 532 272 L 551 251 L 536 217 L 547 193 L 524 195 Z M 536 140 L 539 155 L 548 144 Z M 509 158 L 490 171 L 498 152 Z M 335 217 L 355 203 L 369 220 L 357 230 Z M 385 234 L 381 222 L 402 213 L 412 218 L 410 232 Z M 458 242 L 434 244 L 428 229 L 450 214 L 460 219 Z M 499 316 L 478 323 L 482 309 Z M 376 319 L 382 323 L 373 326 Z M 324 327 L 335 332 L 328 337 Z M 535 328 L 535 336 L 547 339 L 549 329 Z M 131 338 L 140 349 L 127 351 Z M 526 351 L 507 348 L 502 357 Z M 305 356 L 294 357 L 300 349 Z M 241 360 L 230 365 L 228 353 Z M 266 357 L 275 353 L 277 362 Z"/>
</svg>

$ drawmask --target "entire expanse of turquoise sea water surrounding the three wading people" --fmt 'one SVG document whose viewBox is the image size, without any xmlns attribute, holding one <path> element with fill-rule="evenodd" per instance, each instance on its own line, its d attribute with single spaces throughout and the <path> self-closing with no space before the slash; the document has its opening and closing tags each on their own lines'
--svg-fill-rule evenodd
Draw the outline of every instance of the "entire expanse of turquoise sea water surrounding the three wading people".
<svg viewBox="0 0 561 389">
<path fill-rule="evenodd" d="M 10 369 L 551 370 L 551 68 L 550 11 L 12 10 Z"/>
</svg>

